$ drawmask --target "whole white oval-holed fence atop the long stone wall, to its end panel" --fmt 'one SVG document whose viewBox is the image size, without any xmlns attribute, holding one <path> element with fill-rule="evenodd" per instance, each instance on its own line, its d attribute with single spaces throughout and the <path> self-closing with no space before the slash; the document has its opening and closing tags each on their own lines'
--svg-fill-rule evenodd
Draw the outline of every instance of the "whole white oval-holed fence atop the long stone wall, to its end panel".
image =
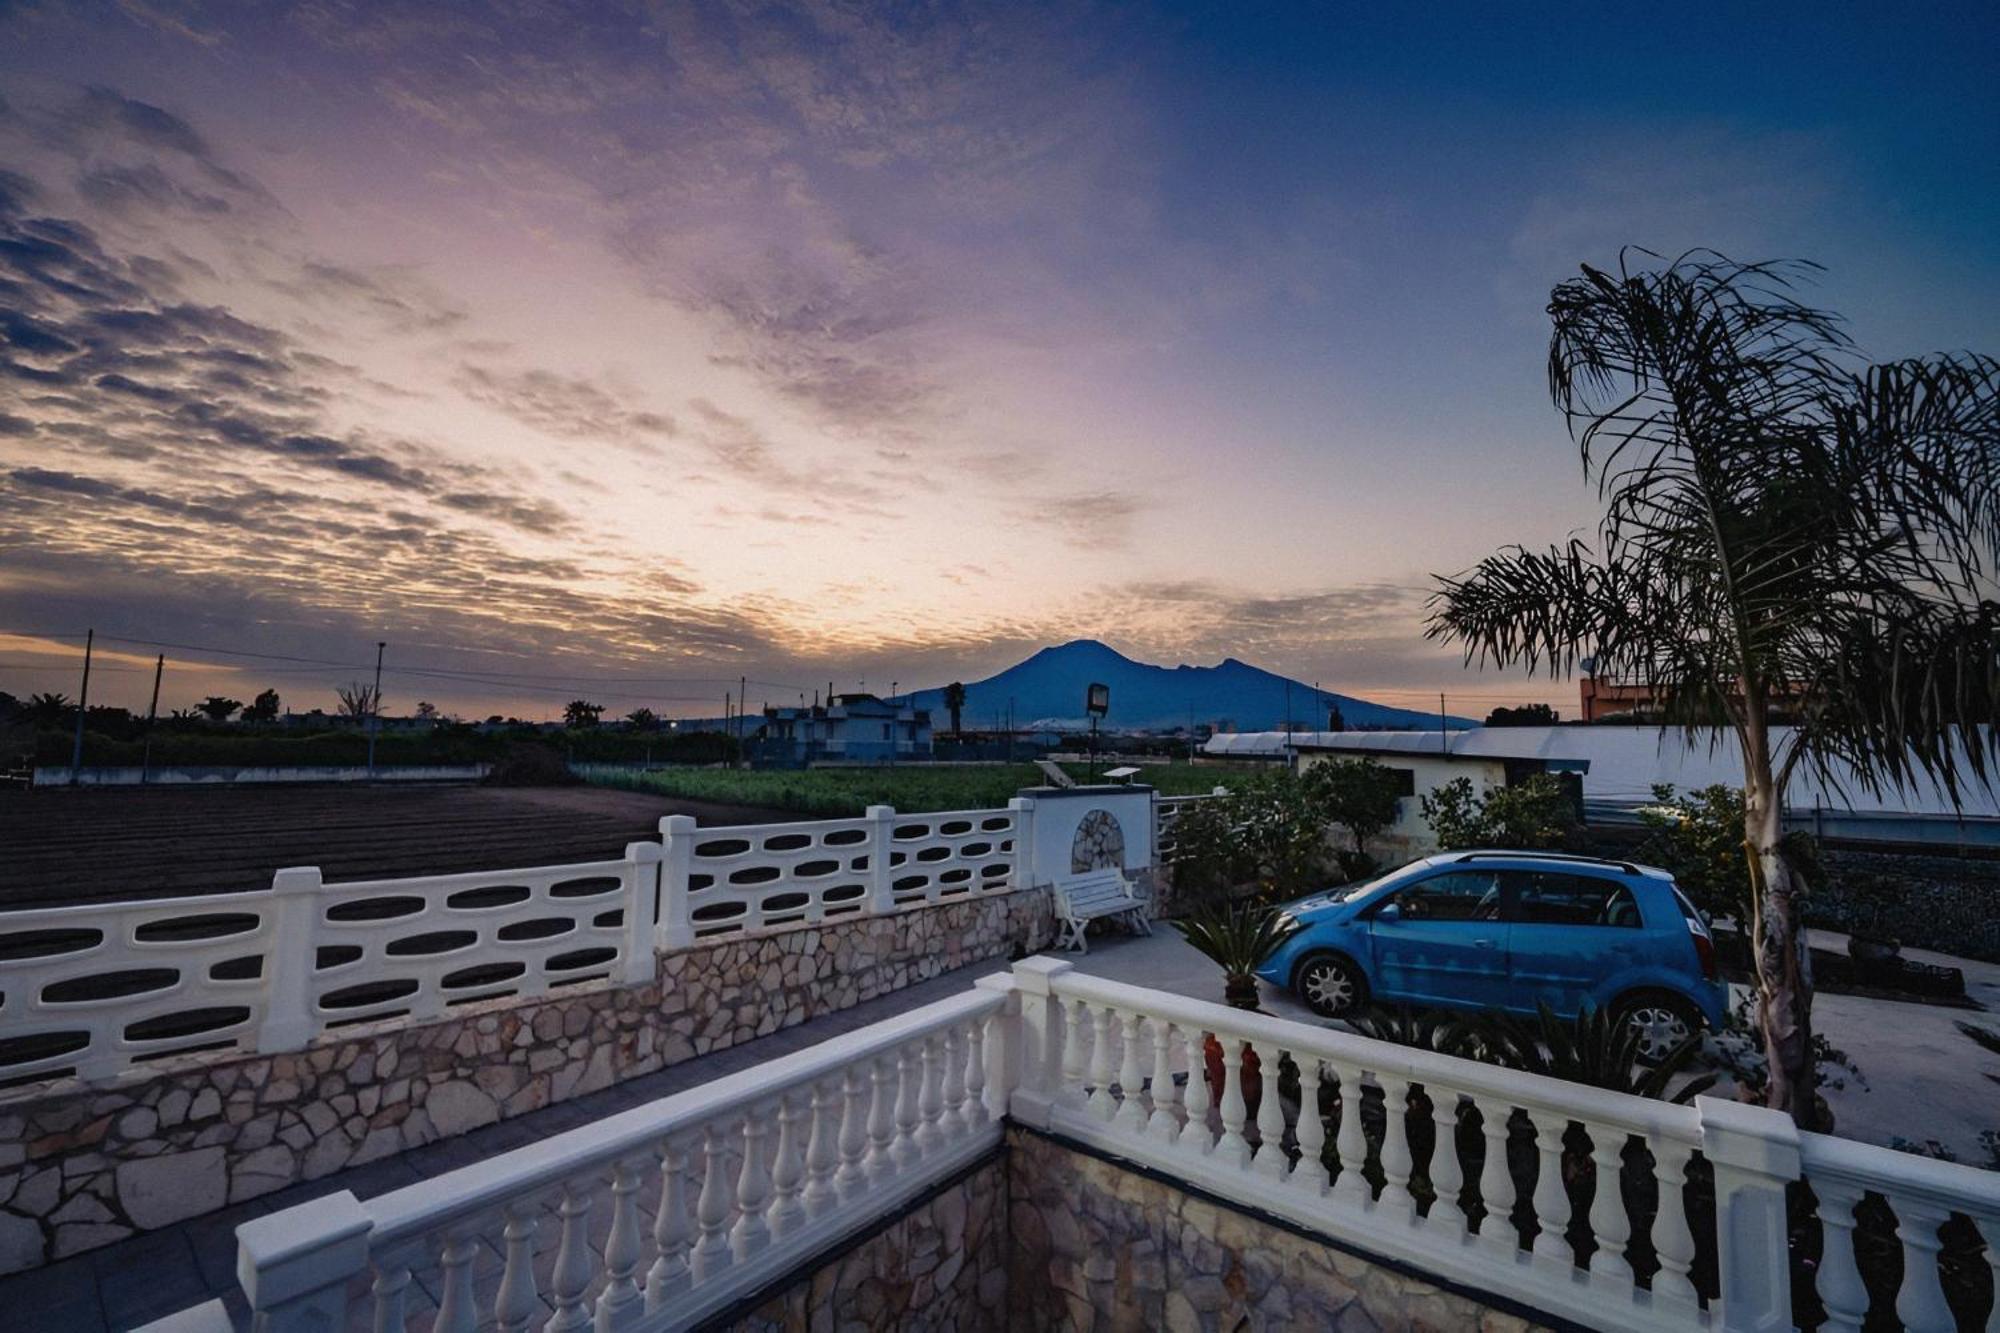
<svg viewBox="0 0 2000 1333">
<path fill-rule="evenodd" d="M 698 829 L 676 815 L 616 861 L 0 913 L 0 1083 L 102 1081 L 190 1051 L 298 1051 L 382 1021 L 648 985 L 658 951 L 1048 885 L 1084 813 L 1150 867 L 1152 791 L 986 811 Z"/>
</svg>

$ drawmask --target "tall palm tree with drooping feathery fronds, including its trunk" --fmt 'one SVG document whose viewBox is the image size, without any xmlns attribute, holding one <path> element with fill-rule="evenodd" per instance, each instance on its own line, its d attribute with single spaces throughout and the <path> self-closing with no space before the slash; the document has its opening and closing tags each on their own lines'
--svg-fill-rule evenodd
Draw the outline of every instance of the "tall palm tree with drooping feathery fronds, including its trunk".
<svg viewBox="0 0 2000 1333">
<path fill-rule="evenodd" d="M 1810 272 L 1626 252 L 1556 286 L 1548 384 L 1604 500 L 1596 542 L 1440 576 L 1430 618 L 1468 660 L 1568 675 L 1594 654 L 1690 739 L 1736 743 L 1766 1101 L 1802 1123 L 1786 785 L 1930 781 L 1956 803 L 2000 761 L 2000 362 L 1866 364 L 1798 300 Z"/>
</svg>

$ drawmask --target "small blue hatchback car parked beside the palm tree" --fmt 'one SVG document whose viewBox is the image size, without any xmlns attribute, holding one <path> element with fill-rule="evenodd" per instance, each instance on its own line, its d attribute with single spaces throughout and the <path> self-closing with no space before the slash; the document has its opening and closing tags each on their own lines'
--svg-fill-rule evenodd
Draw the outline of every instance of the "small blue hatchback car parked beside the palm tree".
<svg viewBox="0 0 2000 1333">
<path fill-rule="evenodd" d="M 1624 861 L 1462 851 L 1290 903 L 1300 931 L 1258 969 L 1336 1019 L 1374 1001 L 1562 1017 L 1614 1013 L 1658 1059 L 1722 1027 L 1708 923 L 1674 877 Z"/>
</svg>

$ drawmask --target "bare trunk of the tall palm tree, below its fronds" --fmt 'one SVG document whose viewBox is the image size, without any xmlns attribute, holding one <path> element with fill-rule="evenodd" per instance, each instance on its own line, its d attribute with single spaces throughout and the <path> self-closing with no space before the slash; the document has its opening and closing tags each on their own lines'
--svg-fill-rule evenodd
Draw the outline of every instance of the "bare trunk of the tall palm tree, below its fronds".
<svg viewBox="0 0 2000 1333">
<path fill-rule="evenodd" d="M 1750 947 L 1756 957 L 1756 1021 L 1770 1067 L 1764 1105 L 1802 1129 L 1818 1125 L 1812 1069 L 1812 957 L 1798 911 L 1800 879 L 1784 853 L 1784 803 L 1772 777 L 1768 735 L 1752 727 L 1744 745 L 1744 849 L 1750 853 Z"/>
</svg>

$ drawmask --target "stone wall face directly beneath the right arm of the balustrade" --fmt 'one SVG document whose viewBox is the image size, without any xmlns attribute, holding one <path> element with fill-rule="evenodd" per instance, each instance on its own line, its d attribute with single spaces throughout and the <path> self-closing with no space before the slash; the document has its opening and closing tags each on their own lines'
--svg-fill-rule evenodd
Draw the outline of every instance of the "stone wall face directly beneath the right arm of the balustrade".
<svg viewBox="0 0 2000 1333">
<path fill-rule="evenodd" d="M 1008 1131 L 1008 1233 L 1022 1329 L 1534 1327 L 1024 1129 Z"/>
</svg>

